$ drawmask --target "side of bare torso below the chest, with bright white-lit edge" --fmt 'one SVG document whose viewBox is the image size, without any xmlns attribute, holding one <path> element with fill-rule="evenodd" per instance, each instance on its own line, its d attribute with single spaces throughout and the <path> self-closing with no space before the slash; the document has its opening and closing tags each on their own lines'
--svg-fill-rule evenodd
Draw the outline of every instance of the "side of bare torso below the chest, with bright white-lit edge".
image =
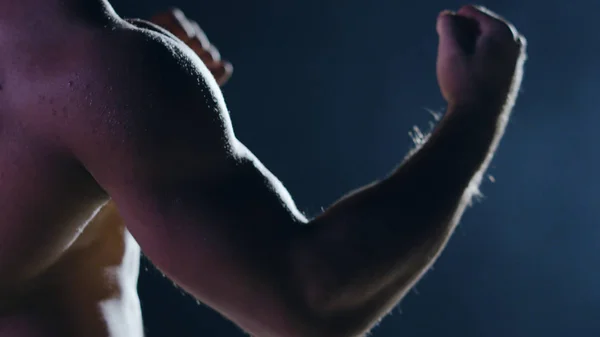
<svg viewBox="0 0 600 337">
<path fill-rule="evenodd" d="M 0 335 L 143 336 L 139 261 L 139 246 L 108 205 L 39 276 L 3 288 L 11 295 L 0 301 Z"/>
</svg>

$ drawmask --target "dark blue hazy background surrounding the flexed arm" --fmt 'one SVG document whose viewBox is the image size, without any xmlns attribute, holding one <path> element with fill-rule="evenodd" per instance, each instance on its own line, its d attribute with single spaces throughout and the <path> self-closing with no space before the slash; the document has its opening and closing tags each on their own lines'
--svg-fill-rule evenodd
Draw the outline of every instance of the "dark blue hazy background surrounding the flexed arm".
<svg viewBox="0 0 600 337">
<path fill-rule="evenodd" d="M 462 2 L 172 1 L 114 6 L 148 17 L 177 5 L 198 20 L 235 66 L 224 93 L 236 133 L 308 214 L 387 173 L 411 127 L 443 108 L 435 18 Z M 481 3 L 529 41 L 496 183 L 373 336 L 598 337 L 600 2 Z M 148 337 L 243 336 L 155 271 L 140 292 Z"/>
</svg>

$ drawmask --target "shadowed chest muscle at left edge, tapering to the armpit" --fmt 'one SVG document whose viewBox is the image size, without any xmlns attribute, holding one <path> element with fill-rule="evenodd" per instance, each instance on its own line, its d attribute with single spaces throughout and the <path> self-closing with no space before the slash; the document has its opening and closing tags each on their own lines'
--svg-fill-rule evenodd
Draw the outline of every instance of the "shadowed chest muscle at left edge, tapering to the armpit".
<svg viewBox="0 0 600 337">
<path fill-rule="evenodd" d="M 0 118 L 0 287 L 51 265 L 104 202 L 93 179 Z"/>
</svg>

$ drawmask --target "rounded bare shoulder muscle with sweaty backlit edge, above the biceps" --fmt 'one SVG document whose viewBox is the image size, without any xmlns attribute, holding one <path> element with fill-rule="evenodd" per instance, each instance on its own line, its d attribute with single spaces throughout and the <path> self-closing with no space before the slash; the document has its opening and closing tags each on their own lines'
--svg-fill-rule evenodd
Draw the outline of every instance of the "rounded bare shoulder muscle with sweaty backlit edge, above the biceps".
<svg viewBox="0 0 600 337">
<path fill-rule="evenodd" d="M 185 45 L 125 26 L 98 38 L 81 62 L 69 82 L 77 116 L 57 132 L 86 166 L 160 171 L 197 165 L 194 153 L 226 156 L 233 133 L 221 91 Z"/>
</svg>

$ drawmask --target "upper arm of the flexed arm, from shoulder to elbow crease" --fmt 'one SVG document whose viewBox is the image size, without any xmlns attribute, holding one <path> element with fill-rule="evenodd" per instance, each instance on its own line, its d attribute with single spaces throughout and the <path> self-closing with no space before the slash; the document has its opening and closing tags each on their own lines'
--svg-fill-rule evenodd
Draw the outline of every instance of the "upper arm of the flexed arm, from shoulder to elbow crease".
<svg viewBox="0 0 600 337">
<path fill-rule="evenodd" d="M 74 83 L 86 110 L 61 138 L 167 276 L 248 331 L 301 331 L 284 260 L 305 219 L 235 139 L 198 58 L 157 36 L 115 40 Z"/>
</svg>

